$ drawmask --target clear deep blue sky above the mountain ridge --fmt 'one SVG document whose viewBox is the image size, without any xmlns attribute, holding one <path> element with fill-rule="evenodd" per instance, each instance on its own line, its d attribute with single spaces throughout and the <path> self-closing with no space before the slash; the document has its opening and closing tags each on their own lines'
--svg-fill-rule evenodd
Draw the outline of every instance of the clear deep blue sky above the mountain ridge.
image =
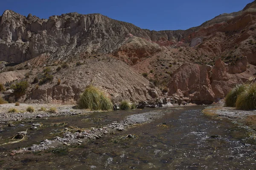
<svg viewBox="0 0 256 170">
<path fill-rule="evenodd" d="M 253 0 L 2 0 L 6 9 L 40 18 L 69 12 L 100 13 L 150 30 L 199 26 L 213 17 L 239 11 Z"/>
</svg>

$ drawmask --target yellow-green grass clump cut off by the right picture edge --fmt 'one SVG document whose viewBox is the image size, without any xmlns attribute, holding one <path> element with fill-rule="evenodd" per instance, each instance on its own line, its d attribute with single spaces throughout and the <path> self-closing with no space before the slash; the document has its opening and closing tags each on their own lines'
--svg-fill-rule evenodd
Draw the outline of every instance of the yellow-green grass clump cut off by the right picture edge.
<svg viewBox="0 0 256 170">
<path fill-rule="evenodd" d="M 236 109 L 252 110 L 256 108 L 256 83 L 247 84 L 236 99 Z"/>
</svg>

